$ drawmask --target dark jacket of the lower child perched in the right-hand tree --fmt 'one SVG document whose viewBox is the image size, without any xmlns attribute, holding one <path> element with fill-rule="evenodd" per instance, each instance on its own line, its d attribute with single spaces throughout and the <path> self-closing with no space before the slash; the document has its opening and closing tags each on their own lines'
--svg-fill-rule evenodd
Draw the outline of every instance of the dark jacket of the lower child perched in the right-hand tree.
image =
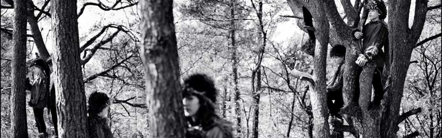
<svg viewBox="0 0 442 138">
<path fill-rule="evenodd" d="M 333 79 L 330 80 L 327 84 L 327 91 L 342 92 L 344 69 L 345 65 L 339 64 L 338 69 L 336 69 L 335 75 L 333 75 Z"/>
</svg>

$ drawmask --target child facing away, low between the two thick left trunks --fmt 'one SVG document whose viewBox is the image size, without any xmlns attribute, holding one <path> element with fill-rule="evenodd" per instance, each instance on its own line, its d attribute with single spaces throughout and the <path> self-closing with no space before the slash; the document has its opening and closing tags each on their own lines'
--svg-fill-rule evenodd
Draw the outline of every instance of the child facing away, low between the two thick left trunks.
<svg viewBox="0 0 442 138">
<path fill-rule="evenodd" d="M 103 92 L 92 92 L 88 100 L 89 138 L 114 138 L 106 118 L 109 97 Z"/>
</svg>

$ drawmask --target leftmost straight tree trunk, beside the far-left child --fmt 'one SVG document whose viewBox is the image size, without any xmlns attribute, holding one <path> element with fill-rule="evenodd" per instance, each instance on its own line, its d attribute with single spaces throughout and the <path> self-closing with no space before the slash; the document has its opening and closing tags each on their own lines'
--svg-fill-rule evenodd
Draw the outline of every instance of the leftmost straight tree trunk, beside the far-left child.
<svg viewBox="0 0 442 138">
<path fill-rule="evenodd" d="M 14 0 L 11 61 L 11 136 L 27 138 L 26 119 L 26 0 Z"/>
</svg>

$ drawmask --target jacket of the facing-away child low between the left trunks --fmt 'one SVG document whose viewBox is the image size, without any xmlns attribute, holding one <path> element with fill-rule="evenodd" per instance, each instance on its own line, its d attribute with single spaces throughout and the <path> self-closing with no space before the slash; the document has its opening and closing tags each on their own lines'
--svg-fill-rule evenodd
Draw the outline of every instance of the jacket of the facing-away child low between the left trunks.
<svg viewBox="0 0 442 138">
<path fill-rule="evenodd" d="M 89 138 L 114 138 L 106 118 L 98 115 L 88 116 Z"/>
</svg>

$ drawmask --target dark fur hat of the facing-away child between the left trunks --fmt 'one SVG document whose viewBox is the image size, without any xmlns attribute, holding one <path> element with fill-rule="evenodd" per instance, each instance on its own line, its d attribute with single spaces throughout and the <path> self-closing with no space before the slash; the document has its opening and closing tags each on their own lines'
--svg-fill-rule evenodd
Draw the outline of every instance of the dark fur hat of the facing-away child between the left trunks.
<svg viewBox="0 0 442 138">
<path fill-rule="evenodd" d="M 89 96 L 88 104 L 88 113 L 89 115 L 97 115 L 101 111 L 103 111 L 104 108 L 109 106 L 109 97 L 106 93 L 103 92 L 92 92 Z"/>
</svg>

